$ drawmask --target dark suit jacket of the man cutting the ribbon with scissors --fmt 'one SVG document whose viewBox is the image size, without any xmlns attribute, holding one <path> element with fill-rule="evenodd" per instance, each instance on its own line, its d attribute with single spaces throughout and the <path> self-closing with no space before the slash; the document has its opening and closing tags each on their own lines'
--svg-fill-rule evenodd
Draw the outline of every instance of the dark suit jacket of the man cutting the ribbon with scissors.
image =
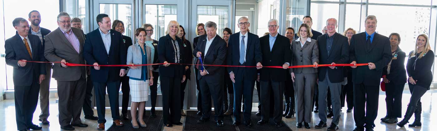
<svg viewBox="0 0 437 131">
<path fill-rule="evenodd" d="M 193 51 L 193 55 L 197 55 L 197 52 L 202 52 L 202 61 L 204 65 L 223 65 L 226 59 L 226 41 L 223 40 L 217 34 L 214 40 L 212 40 L 211 45 L 208 48 L 207 54 L 205 54 L 205 46 L 208 35 L 203 34 L 199 37 L 198 46 Z M 200 68 L 200 67 L 199 67 Z M 222 82 L 224 77 L 225 68 L 222 66 L 205 66 L 208 75 L 201 76 L 200 71 L 198 73 L 197 79 L 204 78 L 205 80 L 211 82 Z"/>
</svg>

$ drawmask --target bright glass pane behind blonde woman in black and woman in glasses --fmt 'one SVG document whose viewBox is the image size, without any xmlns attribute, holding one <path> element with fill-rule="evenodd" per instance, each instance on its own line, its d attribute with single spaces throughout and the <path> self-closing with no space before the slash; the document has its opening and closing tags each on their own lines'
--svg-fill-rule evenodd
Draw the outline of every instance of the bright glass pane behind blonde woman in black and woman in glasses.
<svg viewBox="0 0 437 131">
<path fill-rule="evenodd" d="M 145 23 L 153 25 L 152 39 L 158 40 L 166 35 L 167 24 L 177 20 L 177 5 L 148 5 L 145 10 Z"/>
</svg>

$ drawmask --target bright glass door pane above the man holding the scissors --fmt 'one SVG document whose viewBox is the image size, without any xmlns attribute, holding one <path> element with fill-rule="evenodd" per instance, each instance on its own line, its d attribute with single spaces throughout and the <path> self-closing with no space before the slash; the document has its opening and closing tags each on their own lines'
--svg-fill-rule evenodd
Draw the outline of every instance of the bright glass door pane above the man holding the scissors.
<svg viewBox="0 0 437 131">
<path fill-rule="evenodd" d="M 226 6 L 197 6 L 197 23 L 215 22 L 217 34 L 222 34 L 223 29 L 229 26 L 228 11 Z"/>
</svg>

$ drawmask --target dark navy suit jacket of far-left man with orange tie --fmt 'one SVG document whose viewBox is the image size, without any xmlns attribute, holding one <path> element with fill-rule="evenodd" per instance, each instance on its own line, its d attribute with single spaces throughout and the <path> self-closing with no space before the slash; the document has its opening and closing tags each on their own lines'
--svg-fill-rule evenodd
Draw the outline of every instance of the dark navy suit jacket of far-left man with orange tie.
<svg viewBox="0 0 437 131">
<path fill-rule="evenodd" d="M 20 35 L 15 34 L 5 41 L 4 48 L 6 53 L 6 64 L 14 67 L 13 80 L 14 86 L 31 86 L 39 75 L 45 75 L 45 63 L 27 62 L 26 66 L 18 66 L 18 61 L 25 59 L 28 61 L 44 62 L 44 49 L 41 40 L 37 35 L 28 34 L 29 46 L 32 48 L 32 57 L 29 55 Z"/>
</svg>

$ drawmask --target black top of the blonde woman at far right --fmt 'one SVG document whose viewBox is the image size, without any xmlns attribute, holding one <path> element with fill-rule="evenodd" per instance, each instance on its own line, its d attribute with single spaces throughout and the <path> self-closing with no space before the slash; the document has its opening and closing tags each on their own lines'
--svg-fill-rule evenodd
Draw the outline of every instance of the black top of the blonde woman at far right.
<svg viewBox="0 0 437 131">
<path fill-rule="evenodd" d="M 420 53 L 412 54 L 413 51 L 409 53 L 409 56 L 416 55 L 408 59 L 407 62 L 407 73 L 408 77 L 413 77 L 414 80 L 417 80 L 416 85 L 422 86 L 428 90 L 430 90 L 431 82 L 433 81 L 433 74 L 431 72 L 431 68 L 434 63 L 434 52 L 428 51 L 422 58 L 416 58 L 420 55 Z M 416 66 L 414 66 L 414 61 L 416 61 Z M 408 83 L 411 84 L 411 83 Z"/>
</svg>

